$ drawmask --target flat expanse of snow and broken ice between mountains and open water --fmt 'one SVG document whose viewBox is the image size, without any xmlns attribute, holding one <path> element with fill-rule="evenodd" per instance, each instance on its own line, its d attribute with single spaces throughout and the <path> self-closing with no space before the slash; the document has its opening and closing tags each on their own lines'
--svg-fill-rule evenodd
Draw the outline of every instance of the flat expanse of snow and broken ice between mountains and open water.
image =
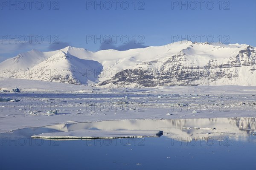
<svg viewBox="0 0 256 170">
<path fill-rule="evenodd" d="M 1 133 L 26 127 L 105 120 L 256 117 L 253 86 L 104 89 L 38 80 L 0 80 L 2 90 L 10 91 L 0 93 L 3 99 L 0 102 Z M 13 92 L 15 87 L 20 92 Z"/>
</svg>

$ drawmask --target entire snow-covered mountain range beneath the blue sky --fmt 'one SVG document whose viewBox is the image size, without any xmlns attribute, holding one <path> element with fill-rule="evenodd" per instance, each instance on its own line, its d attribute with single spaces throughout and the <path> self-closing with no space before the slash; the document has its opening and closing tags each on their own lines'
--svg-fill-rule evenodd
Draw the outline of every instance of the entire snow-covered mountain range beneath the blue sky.
<svg viewBox="0 0 256 170">
<path fill-rule="evenodd" d="M 105 88 L 166 85 L 256 85 L 256 49 L 250 45 L 175 42 L 127 51 L 66 47 L 33 49 L 0 63 L 1 77 Z"/>
</svg>

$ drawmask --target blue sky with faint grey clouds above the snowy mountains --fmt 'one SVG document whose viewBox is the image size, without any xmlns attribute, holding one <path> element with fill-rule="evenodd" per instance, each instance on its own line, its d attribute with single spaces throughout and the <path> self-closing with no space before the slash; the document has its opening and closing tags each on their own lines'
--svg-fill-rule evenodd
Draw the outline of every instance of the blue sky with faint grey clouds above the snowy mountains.
<svg viewBox="0 0 256 170">
<path fill-rule="evenodd" d="M 256 46 L 255 0 L 0 2 L 1 61 L 68 45 L 126 50 L 188 39 Z"/>
</svg>

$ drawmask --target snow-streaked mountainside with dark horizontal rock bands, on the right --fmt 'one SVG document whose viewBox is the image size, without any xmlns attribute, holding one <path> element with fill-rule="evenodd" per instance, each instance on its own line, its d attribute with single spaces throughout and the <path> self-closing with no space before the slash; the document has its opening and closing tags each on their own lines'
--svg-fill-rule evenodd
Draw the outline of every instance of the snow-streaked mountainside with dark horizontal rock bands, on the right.
<svg viewBox="0 0 256 170">
<path fill-rule="evenodd" d="M 190 48 L 190 47 L 189 47 Z M 247 46 L 233 57 L 209 59 L 197 65 L 188 59 L 186 50 L 151 62 L 141 62 L 111 79 L 103 87 L 156 87 L 165 85 L 255 85 L 255 48 Z M 253 80 L 254 81 L 251 81 Z"/>
</svg>

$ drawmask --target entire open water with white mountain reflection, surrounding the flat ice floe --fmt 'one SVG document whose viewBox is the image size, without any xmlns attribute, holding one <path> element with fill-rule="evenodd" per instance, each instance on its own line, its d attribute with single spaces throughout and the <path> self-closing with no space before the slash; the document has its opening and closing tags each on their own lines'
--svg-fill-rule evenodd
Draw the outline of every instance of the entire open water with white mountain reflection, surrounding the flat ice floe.
<svg viewBox="0 0 256 170">
<path fill-rule="evenodd" d="M 163 130 L 163 136 L 68 141 L 23 137 L 81 129 Z M 255 170 L 255 131 L 255 118 L 122 120 L 26 128 L 1 133 L 0 169 Z M 206 140 L 190 140 L 198 136 Z"/>
</svg>

